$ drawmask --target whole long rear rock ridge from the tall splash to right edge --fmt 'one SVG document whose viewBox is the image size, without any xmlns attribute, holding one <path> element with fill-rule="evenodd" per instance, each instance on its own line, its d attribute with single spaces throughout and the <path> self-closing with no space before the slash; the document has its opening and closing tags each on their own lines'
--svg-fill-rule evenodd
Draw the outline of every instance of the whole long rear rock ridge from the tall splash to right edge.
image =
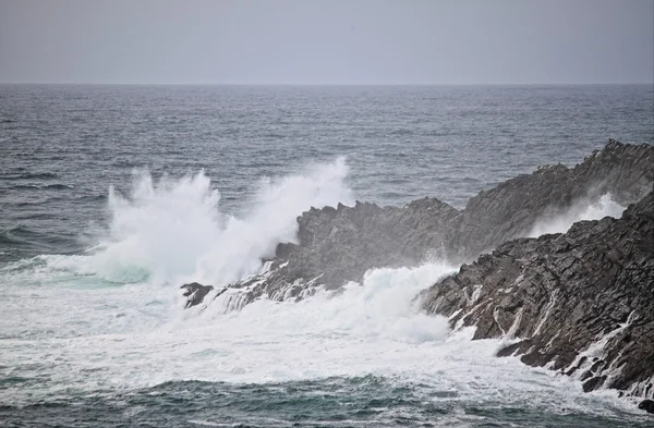
<svg viewBox="0 0 654 428">
<path fill-rule="evenodd" d="M 464 210 L 435 198 L 404 207 L 356 203 L 312 208 L 298 218 L 296 243 L 280 243 L 262 273 L 228 286 L 240 294 L 230 302 L 239 308 L 262 295 L 299 299 L 317 285 L 337 289 L 360 282 L 368 269 L 414 266 L 425 257 L 472 260 L 524 236 L 537 219 L 564 212 L 580 199 L 610 193 L 626 205 L 643 196 L 653 181 L 654 146 L 609 140 L 574 168 L 540 168 L 481 192 Z M 201 301 L 194 298 L 190 306 Z"/>
</svg>

